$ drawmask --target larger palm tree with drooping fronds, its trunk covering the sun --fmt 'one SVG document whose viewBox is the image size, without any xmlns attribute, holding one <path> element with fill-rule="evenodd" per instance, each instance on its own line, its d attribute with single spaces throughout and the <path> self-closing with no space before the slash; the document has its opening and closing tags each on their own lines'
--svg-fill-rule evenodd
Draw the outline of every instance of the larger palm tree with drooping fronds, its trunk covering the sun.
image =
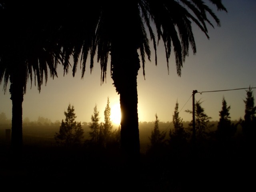
<svg viewBox="0 0 256 192">
<path fill-rule="evenodd" d="M 221 0 L 209 0 L 209 2 L 218 10 L 227 11 Z M 140 60 L 145 75 L 145 59 L 147 57 L 150 61 L 151 56 L 150 40 L 154 45 L 155 64 L 157 65 L 156 47 L 162 40 L 166 50 L 167 69 L 173 50 L 177 74 L 180 76 L 189 46 L 192 47 L 193 53 L 196 53 L 192 22 L 209 38 L 206 24 L 212 27 L 214 25 L 208 17 L 211 17 L 217 26 L 220 26 L 220 20 L 209 6 L 198 0 L 137 0 L 118 1 L 118 4 L 114 0 L 92 1 L 87 2 L 85 6 L 77 6 L 76 10 L 76 14 L 83 10 L 82 17 L 75 19 L 76 22 L 80 22 L 78 26 L 72 28 L 73 30 L 69 30 L 68 26 L 66 29 L 62 28 L 63 31 L 76 34 L 64 39 L 63 52 L 66 58 L 64 69 L 68 72 L 70 66 L 68 59 L 72 55 L 74 76 L 78 60 L 81 58 L 83 78 L 87 58 L 90 57 L 90 70 L 92 70 L 94 56 L 97 55 L 103 83 L 106 78 L 108 57 L 111 56 L 111 78 L 116 92 L 120 94 L 121 149 L 128 157 L 138 159 L 140 140 L 137 75 Z"/>
</svg>

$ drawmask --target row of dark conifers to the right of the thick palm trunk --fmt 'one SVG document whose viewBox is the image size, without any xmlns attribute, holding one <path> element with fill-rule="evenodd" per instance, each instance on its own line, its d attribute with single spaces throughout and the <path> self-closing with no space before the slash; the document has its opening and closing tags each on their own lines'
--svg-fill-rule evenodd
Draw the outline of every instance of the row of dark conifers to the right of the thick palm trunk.
<svg viewBox="0 0 256 192">
<path fill-rule="evenodd" d="M 222 110 L 219 111 L 220 119 L 218 121 L 217 129 L 212 130 L 214 124 L 210 124 L 210 119 L 202 107 L 202 101 L 197 100 L 195 103 L 195 129 L 196 129 L 196 140 L 198 143 L 204 142 L 204 140 L 214 139 L 220 144 L 228 144 L 234 135 L 236 134 L 237 127 L 242 127 L 242 134 L 244 140 L 248 143 L 253 142 L 256 132 L 256 106 L 254 106 L 254 95 L 252 88 L 249 87 L 246 90 L 245 103 L 245 114 L 244 119 L 236 123 L 232 123 L 230 120 L 230 106 L 227 105 L 225 98 L 222 99 Z M 185 110 L 192 114 L 191 110 Z M 151 132 L 150 139 L 150 150 L 159 150 L 160 147 L 164 146 L 167 142 L 172 147 L 184 146 L 187 142 L 191 142 L 192 138 L 192 121 L 189 123 L 187 128 L 184 128 L 182 118 L 179 116 L 178 101 L 176 102 L 174 114 L 172 116 L 172 123 L 174 125 L 173 130 L 169 130 L 169 138 L 166 139 L 167 131 L 160 131 L 158 123 L 158 116 L 155 115 L 155 125 Z"/>
</svg>

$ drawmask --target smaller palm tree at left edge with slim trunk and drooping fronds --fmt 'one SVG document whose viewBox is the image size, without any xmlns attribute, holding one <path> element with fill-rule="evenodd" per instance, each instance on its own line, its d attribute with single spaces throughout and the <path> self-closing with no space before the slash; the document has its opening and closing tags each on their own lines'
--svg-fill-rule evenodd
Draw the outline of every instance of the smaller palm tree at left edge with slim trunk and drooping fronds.
<svg viewBox="0 0 256 192">
<path fill-rule="evenodd" d="M 0 3 L 0 83 L 4 82 L 4 94 L 10 80 L 12 100 L 13 150 L 22 149 L 22 102 L 28 80 L 34 78 L 38 91 L 50 76 L 57 76 L 56 66 L 61 54 L 57 44 L 52 15 L 44 15 L 47 5 L 43 2 L 7 1 Z M 43 11 L 40 11 L 43 9 Z M 49 14 L 49 12 L 48 12 Z M 43 16 L 44 15 L 44 16 Z M 55 32 L 54 32 L 55 31 Z M 34 76 L 33 76 L 34 75 Z"/>
</svg>

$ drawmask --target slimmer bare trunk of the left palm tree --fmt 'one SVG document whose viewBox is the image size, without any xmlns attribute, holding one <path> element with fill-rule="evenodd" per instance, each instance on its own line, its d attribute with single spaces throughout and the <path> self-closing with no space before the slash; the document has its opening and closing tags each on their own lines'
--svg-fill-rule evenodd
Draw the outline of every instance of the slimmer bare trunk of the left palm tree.
<svg viewBox="0 0 256 192">
<path fill-rule="evenodd" d="M 11 147 L 15 152 L 22 150 L 22 102 L 24 95 L 24 76 L 26 71 L 14 70 L 10 75 L 10 94 L 12 100 L 12 141 Z M 22 78 L 21 78 L 22 77 Z"/>
</svg>

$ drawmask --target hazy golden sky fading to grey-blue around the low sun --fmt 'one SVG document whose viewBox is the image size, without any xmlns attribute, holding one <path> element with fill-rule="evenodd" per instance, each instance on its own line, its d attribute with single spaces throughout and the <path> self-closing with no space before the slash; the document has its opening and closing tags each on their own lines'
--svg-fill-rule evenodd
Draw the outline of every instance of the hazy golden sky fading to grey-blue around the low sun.
<svg viewBox="0 0 256 192">
<path fill-rule="evenodd" d="M 218 27 L 208 26 L 210 39 L 193 28 L 197 52 L 190 50 L 183 64 L 181 76 L 176 73 L 174 54 L 169 62 L 169 74 L 163 45 L 157 47 L 158 65 L 154 62 L 154 49 L 149 62 L 146 60 L 145 79 L 142 66 L 138 72 L 138 118 L 139 122 L 155 121 L 155 114 L 161 122 L 172 122 L 176 102 L 179 104 L 179 115 L 184 121 L 191 121 L 192 115 L 185 110 L 192 110 L 192 92 L 197 90 L 195 100 L 202 101 L 205 113 L 211 120 L 218 121 L 222 109 L 222 98 L 230 106 L 231 120 L 244 117 L 246 90 L 242 88 L 256 87 L 256 1 L 255 0 L 223 0 L 228 12 L 214 12 L 221 22 Z M 94 106 L 100 113 L 100 121 L 104 122 L 104 110 L 107 99 L 110 108 L 119 105 L 117 94 L 110 76 L 110 66 L 106 81 L 101 84 L 100 64 L 95 63 L 92 73 L 89 64 L 84 78 L 77 70 L 75 77 L 70 74 L 63 76 L 62 66 L 58 66 L 58 78 L 48 77 L 46 86 L 41 92 L 37 86 L 24 95 L 23 119 L 36 121 L 38 117 L 65 120 L 64 111 L 68 105 L 74 106 L 77 122 L 91 122 Z M 0 92 L 0 113 L 4 112 L 8 119 L 12 118 L 12 101 L 8 92 Z M 238 89 L 238 90 L 233 90 Z M 228 90 L 228 91 L 223 91 Z M 217 91 L 217 92 L 215 92 Z M 256 89 L 252 89 L 256 92 Z M 256 103 L 256 100 L 255 100 Z M 114 114 L 114 111 L 112 112 Z"/>
</svg>

